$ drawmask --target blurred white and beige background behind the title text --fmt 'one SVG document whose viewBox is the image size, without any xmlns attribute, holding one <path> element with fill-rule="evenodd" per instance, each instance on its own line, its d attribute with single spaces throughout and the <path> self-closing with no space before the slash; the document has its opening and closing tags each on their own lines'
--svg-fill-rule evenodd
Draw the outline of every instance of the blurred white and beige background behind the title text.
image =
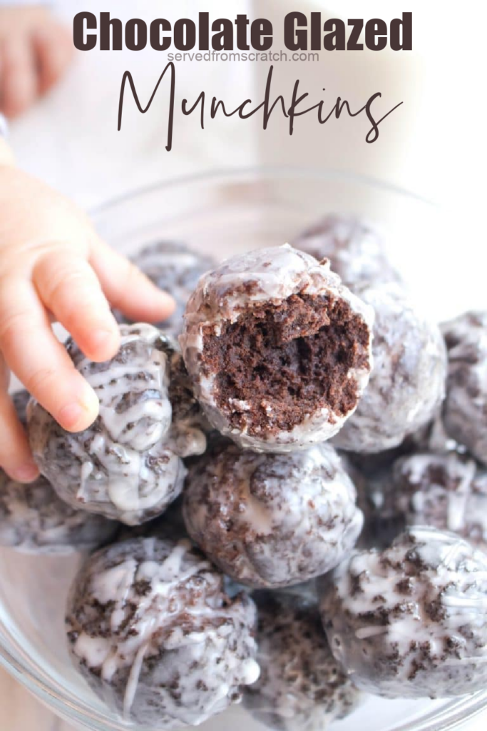
<svg viewBox="0 0 487 731">
<path fill-rule="evenodd" d="M 53 12 L 69 24 L 80 9 L 128 20 L 165 17 L 196 18 L 196 0 L 54 0 Z M 299 6 L 299 8 L 298 8 Z M 127 95 L 123 128 L 117 132 L 118 98 L 123 72 L 130 70 L 141 100 L 148 99 L 166 65 L 166 53 L 150 48 L 75 53 L 69 72 L 45 99 L 12 123 L 11 140 L 20 164 L 45 178 L 87 208 L 156 181 L 207 170 L 261 164 L 298 164 L 377 178 L 442 208 L 432 230 L 418 220 L 415 240 L 396 244 L 398 264 L 423 298 L 442 298 L 440 309 L 462 298 L 465 306 L 481 306 L 483 268 L 484 169 L 483 29 L 486 4 L 461 5 L 431 0 L 207 0 L 211 18 L 246 13 L 250 20 L 272 19 L 280 47 L 286 12 L 320 10 L 326 17 L 383 18 L 413 12 L 413 50 L 337 51 L 321 53 L 320 61 L 275 63 L 274 94 L 291 96 L 294 81 L 311 96 L 323 94 L 329 108 L 337 96 L 361 107 L 380 91 L 377 108 L 403 102 L 380 125 L 373 144 L 364 137 L 365 115 L 342 116 L 321 126 L 312 114 L 296 121 L 293 137 L 288 121 L 272 115 L 263 132 L 261 119 L 242 121 L 219 114 L 207 121 L 177 115 L 173 150 L 166 145 L 168 94 L 161 89 L 150 111 L 141 115 Z M 174 49 L 172 49 L 174 50 Z M 249 97 L 261 101 L 269 63 L 178 62 L 177 105 L 202 91 L 237 106 Z M 326 92 L 321 92 L 322 88 Z M 161 93 L 162 92 L 162 93 Z M 369 204 L 368 204 L 369 205 Z M 342 208 L 360 211 L 359 201 Z M 394 211 L 369 211 L 384 219 Z M 394 242 L 391 242 L 394 245 Z M 434 276 L 433 276 L 434 273 Z M 437 292 L 439 292 L 437 294 Z"/>
</svg>

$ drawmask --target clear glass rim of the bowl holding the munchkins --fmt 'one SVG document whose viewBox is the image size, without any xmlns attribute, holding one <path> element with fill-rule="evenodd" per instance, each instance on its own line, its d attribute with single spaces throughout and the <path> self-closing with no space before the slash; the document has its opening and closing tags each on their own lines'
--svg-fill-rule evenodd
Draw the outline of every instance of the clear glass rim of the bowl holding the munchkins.
<svg viewBox="0 0 487 731">
<path fill-rule="evenodd" d="M 266 165 L 250 167 L 229 167 L 217 170 L 203 171 L 196 174 L 180 175 L 175 178 L 166 178 L 162 181 L 142 186 L 134 191 L 125 192 L 118 197 L 113 197 L 107 202 L 101 203 L 92 208 L 89 212 L 94 223 L 103 216 L 109 214 L 120 205 L 134 202 L 140 197 L 166 189 L 180 188 L 182 186 L 208 183 L 225 183 L 236 181 L 247 181 L 256 178 L 308 178 L 317 181 L 344 181 L 358 183 L 360 186 L 375 188 L 384 192 L 406 197 L 410 200 L 439 208 L 436 202 L 426 199 L 420 194 L 396 186 L 394 183 L 380 180 L 369 175 L 357 175 L 347 170 L 335 170 L 313 167 L 302 167 L 293 165 Z M 19 681 L 29 692 L 34 694 L 42 703 L 52 711 L 61 716 L 62 719 L 81 724 L 84 727 L 97 731 L 118 731 L 119 723 L 115 723 L 101 715 L 99 711 L 92 709 L 79 698 L 72 700 L 64 689 L 58 685 L 55 678 L 45 677 L 39 667 L 31 660 L 18 642 L 7 634 L 6 625 L 2 621 L 1 613 L 3 607 L 0 605 L 0 666 L 7 670 Z M 408 721 L 394 731 L 450 731 L 459 724 L 478 716 L 482 711 L 487 710 L 487 689 L 468 696 L 462 696 L 447 702 L 439 710 L 426 713 L 418 721 Z M 121 719 L 120 719 L 121 720 Z M 131 727 L 127 724 L 127 729 Z"/>
</svg>

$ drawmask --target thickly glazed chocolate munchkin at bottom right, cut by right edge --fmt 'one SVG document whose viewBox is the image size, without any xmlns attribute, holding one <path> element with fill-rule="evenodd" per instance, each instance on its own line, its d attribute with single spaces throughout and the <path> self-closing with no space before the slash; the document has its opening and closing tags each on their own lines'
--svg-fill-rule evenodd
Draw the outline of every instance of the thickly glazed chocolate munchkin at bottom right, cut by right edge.
<svg viewBox="0 0 487 731">
<path fill-rule="evenodd" d="M 391 548 L 353 554 L 321 580 L 335 657 L 386 697 L 448 697 L 487 682 L 487 556 L 415 526 Z"/>
</svg>

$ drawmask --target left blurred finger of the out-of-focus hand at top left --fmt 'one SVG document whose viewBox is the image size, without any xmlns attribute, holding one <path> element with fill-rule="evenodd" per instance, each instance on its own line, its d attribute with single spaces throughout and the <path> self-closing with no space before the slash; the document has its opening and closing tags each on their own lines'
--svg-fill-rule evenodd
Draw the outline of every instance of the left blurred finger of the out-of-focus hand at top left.
<svg viewBox="0 0 487 731">
<path fill-rule="evenodd" d="M 4 38 L 1 49 L 1 108 L 15 117 L 25 112 L 37 98 L 37 72 L 28 37 Z"/>
</svg>

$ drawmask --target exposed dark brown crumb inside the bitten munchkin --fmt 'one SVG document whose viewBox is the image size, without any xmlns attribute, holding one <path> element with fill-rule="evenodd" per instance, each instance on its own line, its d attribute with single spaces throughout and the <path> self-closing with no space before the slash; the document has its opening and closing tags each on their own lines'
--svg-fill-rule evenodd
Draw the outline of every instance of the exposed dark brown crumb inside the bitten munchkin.
<svg viewBox="0 0 487 731">
<path fill-rule="evenodd" d="M 291 295 L 204 330 L 202 367 L 216 379 L 218 408 L 251 435 L 291 431 L 326 408 L 329 420 L 357 402 L 350 369 L 369 366 L 369 330 L 341 298 Z"/>
</svg>

